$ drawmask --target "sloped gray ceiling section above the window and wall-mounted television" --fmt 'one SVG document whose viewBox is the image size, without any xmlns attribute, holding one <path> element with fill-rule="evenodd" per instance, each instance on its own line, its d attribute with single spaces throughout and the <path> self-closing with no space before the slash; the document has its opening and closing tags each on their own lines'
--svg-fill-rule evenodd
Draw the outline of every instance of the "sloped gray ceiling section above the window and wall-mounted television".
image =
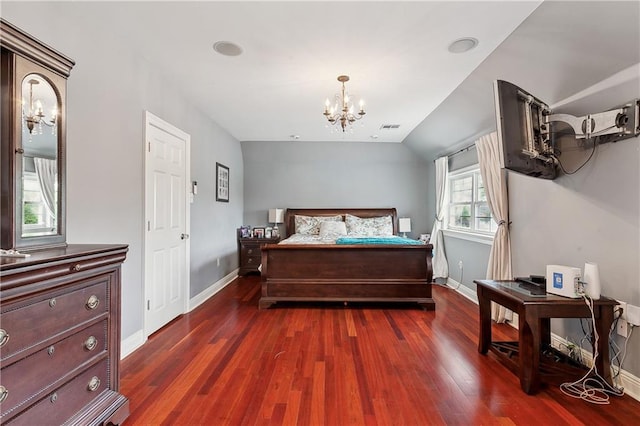
<svg viewBox="0 0 640 426">
<path fill-rule="evenodd" d="M 568 110 L 559 105 L 615 74 L 617 81 L 589 98 L 590 107 L 599 109 L 585 109 L 575 102 Z M 545 1 L 404 144 L 425 159 L 433 159 L 495 130 L 496 79 L 520 86 L 554 112 L 577 116 L 618 107 L 619 99 L 640 98 L 640 2 Z M 615 96 L 616 91 L 626 95 Z M 611 104 L 608 97 L 617 100 Z"/>
</svg>

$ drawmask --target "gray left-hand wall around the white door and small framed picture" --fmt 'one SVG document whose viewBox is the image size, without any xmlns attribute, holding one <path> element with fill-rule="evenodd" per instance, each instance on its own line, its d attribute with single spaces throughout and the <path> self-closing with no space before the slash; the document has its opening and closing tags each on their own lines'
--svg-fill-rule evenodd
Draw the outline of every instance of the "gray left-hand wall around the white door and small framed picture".
<svg viewBox="0 0 640 426">
<path fill-rule="evenodd" d="M 241 224 L 240 144 L 158 75 L 144 52 L 112 47 L 119 37 L 96 3 L 3 2 L 8 21 L 76 61 L 68 82 L 67 240 L 126 243 L 122 338 L 143 327 L 144 111 L 191 135 L 191 295 L 237 267 L 234 229 Z M 104 21 L 104 22 L 103 22 Z M 230 167 L 231 202 L 216 203 L 215 162 Z M 212 263 L 222 258 L 220 268 Z"/>
</svg>

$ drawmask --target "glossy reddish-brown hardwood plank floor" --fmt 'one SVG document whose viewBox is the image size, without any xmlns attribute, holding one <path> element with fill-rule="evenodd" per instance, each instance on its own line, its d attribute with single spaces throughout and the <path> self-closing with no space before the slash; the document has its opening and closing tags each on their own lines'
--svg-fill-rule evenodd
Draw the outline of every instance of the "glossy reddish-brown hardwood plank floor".
<svg viewBox="0 0 640 426">
<path fill-rule="evenodd" d="M 298 304 L 258 310 L 239 278 L 122 362 L 126 425 L 637 424 L 640 402 L 535 396 L 477 351 L 478 308 L 440 286 L 436 310 Z M 514 340 L 508 325 L 494 339 Z"/>
</svg>

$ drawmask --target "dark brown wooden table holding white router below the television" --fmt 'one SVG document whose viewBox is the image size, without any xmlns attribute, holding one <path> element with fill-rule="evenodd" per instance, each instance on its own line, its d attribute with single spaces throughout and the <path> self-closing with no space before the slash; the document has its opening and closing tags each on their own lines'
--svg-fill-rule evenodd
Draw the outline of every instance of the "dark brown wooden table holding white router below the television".
<svg viewBox="0 0 640 426">
<path fill-rule="evenodd" d="M 528 394 L 540 388 L 542 350 L 551 346 L 551 318 L 591 318 L 584 299 L 532 291 L 517 281 L 475 280 L 480 309 L 480 337 L 478 352 L 491 350 L 520 378 L 520 387 Z M 535 294 L 542 293 L 542 294 Z M 516 312 L 519 317 L 518 342 L 491 341 L 491 302 Z M 613 309 L 617 302 L 607 297 L 594 300 L 595 330 L 598 333 L 596 368 L 612 384 L 609 367 L 609 330 L 613 323 Z M 507 348 L 507 350 L 505 350 Z M 574 369 L 574 374 L 579 370 Z M 584 372 L 582 372 L 584 374 Z M 573 380 L 579 379 L 577 375 Z"/>
</svg>

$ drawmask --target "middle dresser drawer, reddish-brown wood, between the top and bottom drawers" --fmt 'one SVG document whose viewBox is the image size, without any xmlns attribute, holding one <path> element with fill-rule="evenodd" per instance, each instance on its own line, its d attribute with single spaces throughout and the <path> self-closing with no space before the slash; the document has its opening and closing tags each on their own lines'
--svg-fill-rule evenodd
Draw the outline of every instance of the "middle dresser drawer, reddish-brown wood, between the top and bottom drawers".
<svg viewBox="0 0 640 426">
<path fill-rule="evenodd" d="M 6 396 L 0 403 L 0 419 L 34 396 L 54 388 L 73 370 L 107 351 L 107 321 L 94 324 L 41 349 L 0 371 Z"/>
</svg>

